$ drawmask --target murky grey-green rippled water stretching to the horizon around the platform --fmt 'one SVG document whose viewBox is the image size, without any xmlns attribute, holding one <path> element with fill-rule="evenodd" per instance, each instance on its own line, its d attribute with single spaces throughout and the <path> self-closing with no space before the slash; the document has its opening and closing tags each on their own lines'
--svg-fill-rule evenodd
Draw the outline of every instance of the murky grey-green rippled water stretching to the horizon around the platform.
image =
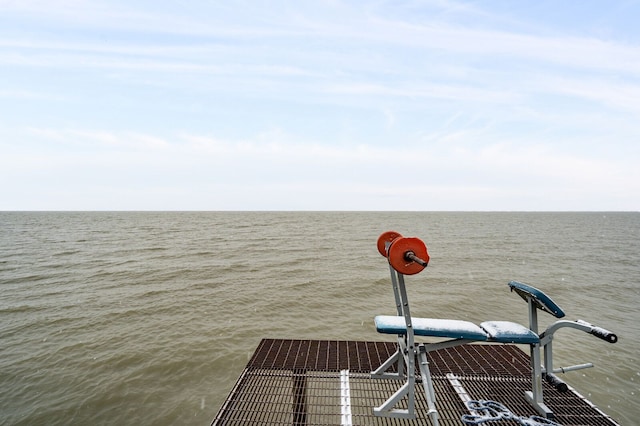
<svg viewBox="0 0 640 426">
<path fill-rule="evenodd" d="M 389 229 L 429 247 L 414 315 L 526 324 L 518 279 L 616 332 L 562 331 L 554 360 L 635 424 L 639 213 L 359 212 L 0 213 L 0 423 L 206 425 L 263 337 L 388 339 Z"/>
</svg>

